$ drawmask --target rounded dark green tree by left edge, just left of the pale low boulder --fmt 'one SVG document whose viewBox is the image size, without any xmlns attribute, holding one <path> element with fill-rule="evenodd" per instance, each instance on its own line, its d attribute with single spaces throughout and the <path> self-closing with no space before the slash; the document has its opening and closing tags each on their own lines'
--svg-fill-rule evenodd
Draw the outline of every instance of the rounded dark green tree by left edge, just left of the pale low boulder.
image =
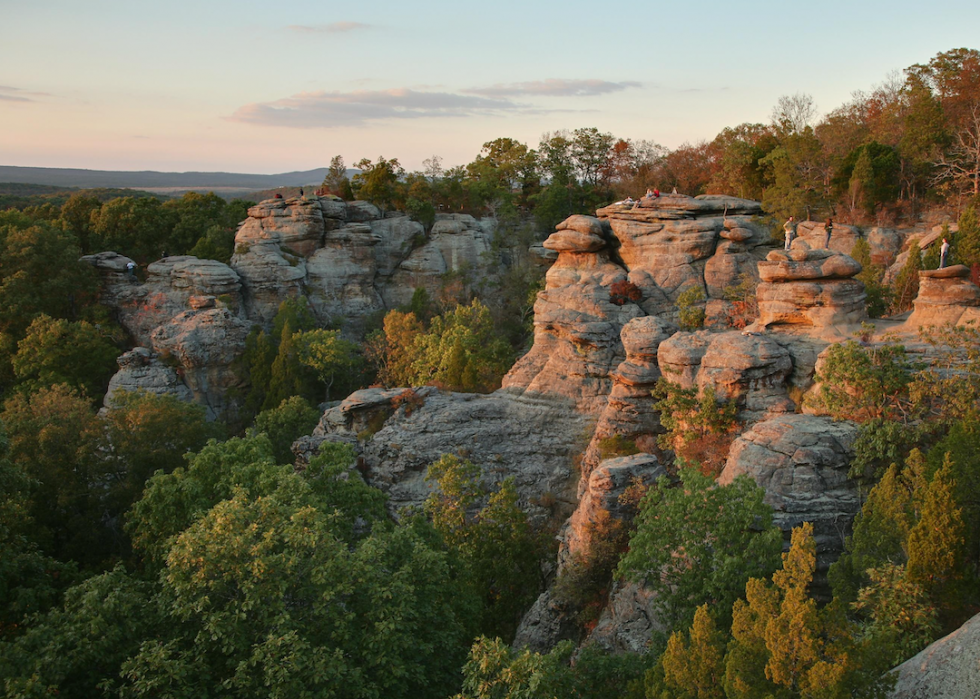
<svg viewBox="0 0 980 699">
<path fill-rule="evenodd" d="M 14 376 L 26 390 L 67 384 L 97 400 L 116 372 L 118 354 L 91 323 L 55 320 L 42 313 L 17 345 Z"/>
</svg>

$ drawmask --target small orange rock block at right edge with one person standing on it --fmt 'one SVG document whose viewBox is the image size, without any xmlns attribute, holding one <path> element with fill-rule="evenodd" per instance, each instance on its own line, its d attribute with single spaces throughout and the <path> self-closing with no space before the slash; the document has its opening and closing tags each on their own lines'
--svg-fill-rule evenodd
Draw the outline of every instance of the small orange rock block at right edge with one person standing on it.
<svg viewBox="0 0 980 699">
<path fill-rule="evenodd" d="M 980 318 L 980 287 L 970 280 L 970 268 L 952 265 L 919 272 L 919 294 L 906 326 L 961 324 Z"/>
</svg>

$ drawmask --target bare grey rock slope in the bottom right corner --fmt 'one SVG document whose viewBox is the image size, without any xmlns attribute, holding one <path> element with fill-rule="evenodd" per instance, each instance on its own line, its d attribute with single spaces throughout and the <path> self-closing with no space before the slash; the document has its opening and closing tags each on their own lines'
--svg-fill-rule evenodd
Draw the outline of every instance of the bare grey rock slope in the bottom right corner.
<svg viewBox="0 0 980 699">
<path fill-rule="evenodd" d="M 974 699 L 980 693 L 980 615 L 894 672 L 889 699 Z"/>
</svg>

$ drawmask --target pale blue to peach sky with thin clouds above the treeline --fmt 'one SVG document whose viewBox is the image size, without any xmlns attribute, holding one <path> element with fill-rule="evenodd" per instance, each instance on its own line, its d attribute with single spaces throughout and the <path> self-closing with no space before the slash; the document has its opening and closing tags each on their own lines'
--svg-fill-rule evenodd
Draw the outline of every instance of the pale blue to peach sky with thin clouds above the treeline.
<svg viewBox="0 0 980 699">
<path fill-rule="evenodd" d="M 980 48 L 980 3 L 0 0 L 0 165 L 274 173 L 472 160 L 595 126 L 668 147 Z"/>
</svg>

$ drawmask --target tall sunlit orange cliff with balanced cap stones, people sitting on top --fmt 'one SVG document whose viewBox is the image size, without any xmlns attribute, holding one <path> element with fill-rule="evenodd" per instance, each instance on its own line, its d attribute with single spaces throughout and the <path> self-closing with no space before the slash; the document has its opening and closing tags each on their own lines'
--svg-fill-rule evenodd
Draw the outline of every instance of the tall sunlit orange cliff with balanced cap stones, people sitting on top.
<svg viewBox="0 0 980 699">
<path fill-rule="evenodd" d="M 545 241 L 558 258 L 534 307 L 534 346 L 505 387 L 559 393 L 598 415 L 626 359 L 620 330 L 631 319 L 656 315 L 670 323 L 685 289 L 697 286 L 709 303 L 724 303 L 726 286 L 755 276 L 757 249 L 769 238 L 752 219 L 758 203 L 665 195 L 641 204 L 572 216 Z M 624 282 L 639 295 L 616 305 L 611 287 Z"/>
</svg>

